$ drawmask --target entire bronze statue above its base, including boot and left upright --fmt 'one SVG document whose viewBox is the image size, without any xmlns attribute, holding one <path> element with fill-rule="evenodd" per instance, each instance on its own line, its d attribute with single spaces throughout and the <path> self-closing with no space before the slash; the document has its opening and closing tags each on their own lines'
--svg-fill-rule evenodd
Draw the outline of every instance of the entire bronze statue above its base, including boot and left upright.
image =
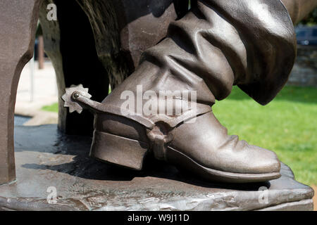
<svg viewBox="0 0 317 225">
<path fill-rule="evenodd" d="M 141 169 L 144 155 L 151 152 L 209 180 L 278 178 L 280 162 L 275 153 L 228 136 L 211 106 L 215 99 L 228 96 L 232 85 L 261 104 L 270 102 L 287 81 L 296 56 L 292 24 L 316 7 L 317 0 L 192 0 L 190 10 L 188 3 L 1 2 L 0 184 L 15 180 L 15 95 L 20 72 L 32 57 L 38 19 L 46 54 L 56 70 L 58 94 L 63 96 L 71 84 L 82 84 L 94 100 L 80 86 L 68 89 L 65 96 L 66 105 L 75 110 L 91 109 L 95 123 L 85 111 L 67 112 L 63 101 L 58 111 L 58 128 L 66 134 L 89 135 L 95 129 L 92 156 Z M 47 20 L 49 4 L 56 4 L 58 20 Z M 104 99 L 109 84 L 113 91 Z M 187 111 L 175 107 L 175 114 L 166 117 L 126 114 L 120 95 L 137 94 L 137 86 L 155 94 L 196 91 L 197 107 Z M 187 103 L 181 97 L 174 99 Z"/>
</svg>

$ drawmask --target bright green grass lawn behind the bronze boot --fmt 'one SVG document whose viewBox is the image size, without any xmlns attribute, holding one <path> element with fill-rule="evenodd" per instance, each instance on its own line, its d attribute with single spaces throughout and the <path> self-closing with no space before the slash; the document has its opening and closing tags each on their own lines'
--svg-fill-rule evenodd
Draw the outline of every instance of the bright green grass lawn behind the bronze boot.
<svg viewBox="0 0 317 225">
<path fill-rule="evenodd" d="M 58 105 L 43 108 L 57 112 Z M 229 134 L 275 151 L 298 181 L 317 184 L 317 89 L 286 86 L 266 106 L 259 105 L 235 87 L 213 106 Z"/>
</svg>

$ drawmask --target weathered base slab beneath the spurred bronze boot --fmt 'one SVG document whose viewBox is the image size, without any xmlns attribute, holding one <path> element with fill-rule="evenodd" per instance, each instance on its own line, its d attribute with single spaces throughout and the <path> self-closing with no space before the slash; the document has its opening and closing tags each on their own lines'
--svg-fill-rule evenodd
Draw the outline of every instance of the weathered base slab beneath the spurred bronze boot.
<svg viewBox="0 0 317 225">
<path fill-rule="evenodd" d="M 92 139 L 56 125 L 15 127 L 17 179 L 0 186 L 0 210 L 313 210 L 313 190 L 282 177 L 211 184 L 147 159 L 142 172 L 89 158 Z"/>
</svg>

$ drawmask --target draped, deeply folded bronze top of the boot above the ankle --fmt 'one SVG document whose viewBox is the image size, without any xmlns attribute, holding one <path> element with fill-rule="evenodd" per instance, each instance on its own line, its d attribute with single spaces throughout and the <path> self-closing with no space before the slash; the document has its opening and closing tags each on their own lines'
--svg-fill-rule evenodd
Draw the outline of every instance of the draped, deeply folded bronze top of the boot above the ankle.
<svg viewBox="0 0 317 225">
<path fill-rule="evenodd" d="M 197 90 L 198 102 L 212 105 L 238 85 L 264 105 L 287 82 L 295 57 L 294 27 L 280 0 L 199 0 L 142 61 L 168 70 L 151 89 L 174 89 L 173 82 L 155 85 L 178 80 L 181 89 Z"/>
</svg>

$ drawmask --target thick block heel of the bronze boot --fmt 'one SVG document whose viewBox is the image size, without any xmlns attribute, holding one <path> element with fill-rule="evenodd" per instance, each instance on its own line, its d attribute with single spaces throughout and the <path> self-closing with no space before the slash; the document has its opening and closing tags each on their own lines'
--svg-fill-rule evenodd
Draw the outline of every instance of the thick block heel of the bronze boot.
<svg viewBox="0 0 317 225">
<path fill-rule="evenodd" d="M 90 156 L 130 169 L 141 170 L 148 149 L 147 143 L 94 131 Z"/>
</svg>

